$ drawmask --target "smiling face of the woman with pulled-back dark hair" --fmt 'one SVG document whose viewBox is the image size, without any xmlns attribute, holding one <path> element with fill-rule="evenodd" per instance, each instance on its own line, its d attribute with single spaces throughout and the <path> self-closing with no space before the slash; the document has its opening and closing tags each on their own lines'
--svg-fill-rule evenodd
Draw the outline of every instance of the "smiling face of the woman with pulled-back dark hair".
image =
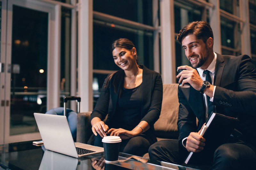
<svg viewBox="0 0 256 170">
<path fill-rule="evenodd" d="M 123 70 L 132 70 L 137 66 L 136 48 L 134 47 L 131 50 L 116 47 L 112 54 L 116 65 Z"/>
</svg>

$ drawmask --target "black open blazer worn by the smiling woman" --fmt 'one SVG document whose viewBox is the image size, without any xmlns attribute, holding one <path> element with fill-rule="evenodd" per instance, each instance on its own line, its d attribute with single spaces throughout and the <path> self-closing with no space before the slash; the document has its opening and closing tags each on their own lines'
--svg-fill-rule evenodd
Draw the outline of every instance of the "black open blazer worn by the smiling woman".
<svg viewBox="0 0 256 170">
<path fill-rule="evenodd" d="M 142 105 L 141 105 L 141 120 L 146 121 L 150 125 L 150 129 L 145 132 L 152 141 L 156 142 L 154 123 L 157 121 L 160 115 L 163 99 L 163 83 L 161 75 L 155 71 L 149 70 L 145 66 L 140 66 L 143 69 L 142 75 Z M 124 71 L 124 70 L 119 70 Z M 100 92 L 100 98 L 92 111 L 91 120 L 94 117 L 99 117 L 104 120 L 108 114 L 108 119 L 106 124 L 111 121 L 116 113 L 116 105 L 118 102 L 120 88 L 123 88 L 124 81 L 120 80 L 118 85 L 118 90 L 116 93 L 114 91 L 113 78 L 115 74 L 110 79 L 108 87 L 104 87 L 106 80 L 102 86 Z"/>
</svg>

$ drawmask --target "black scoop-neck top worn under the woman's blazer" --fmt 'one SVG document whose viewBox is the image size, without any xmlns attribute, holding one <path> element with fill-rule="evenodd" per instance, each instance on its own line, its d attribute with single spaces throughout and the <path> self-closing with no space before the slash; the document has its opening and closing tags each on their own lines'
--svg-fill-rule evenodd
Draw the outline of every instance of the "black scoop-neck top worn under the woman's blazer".
<svg viewBox="0 0 256 170">
<path fill-rule="evenodd" d="M 140 123 L 142 105 L 141 84 L 132 89 L 123 88 L 117 103 L 116 116 L 110 122 L 110 128 L 132 130 Z"/>
</svg>

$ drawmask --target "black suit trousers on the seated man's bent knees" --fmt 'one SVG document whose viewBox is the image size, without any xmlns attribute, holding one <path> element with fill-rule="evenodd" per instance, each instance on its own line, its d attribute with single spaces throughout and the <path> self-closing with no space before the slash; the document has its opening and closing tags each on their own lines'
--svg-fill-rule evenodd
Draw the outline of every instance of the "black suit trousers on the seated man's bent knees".
<svg viewBox="0 0 256 170">
<path fill-rule="evenodd" d="M 156 142 L 150 146 L 148 153 L 152 160 L 174 164 L 182 164 L 188 155 L 186 148 L 175 139 Z M 255 162 L 256 150 L 252 145 L 244 142 L 226 143 L 215 150 L 210 169 L 255 169 Z"/>
</svg>

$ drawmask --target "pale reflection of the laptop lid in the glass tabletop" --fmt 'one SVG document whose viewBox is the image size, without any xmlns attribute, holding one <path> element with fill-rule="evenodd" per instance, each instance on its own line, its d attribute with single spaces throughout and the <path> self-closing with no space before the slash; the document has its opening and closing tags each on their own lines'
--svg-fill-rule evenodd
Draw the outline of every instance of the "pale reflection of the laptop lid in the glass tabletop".
<svg viewBox="0 0 256 170">
<path fill-rule="evenodd" d="M 78 159 L 45 150 L 39 170 L 68 169 L 75 170 Z"/>
</svg>

